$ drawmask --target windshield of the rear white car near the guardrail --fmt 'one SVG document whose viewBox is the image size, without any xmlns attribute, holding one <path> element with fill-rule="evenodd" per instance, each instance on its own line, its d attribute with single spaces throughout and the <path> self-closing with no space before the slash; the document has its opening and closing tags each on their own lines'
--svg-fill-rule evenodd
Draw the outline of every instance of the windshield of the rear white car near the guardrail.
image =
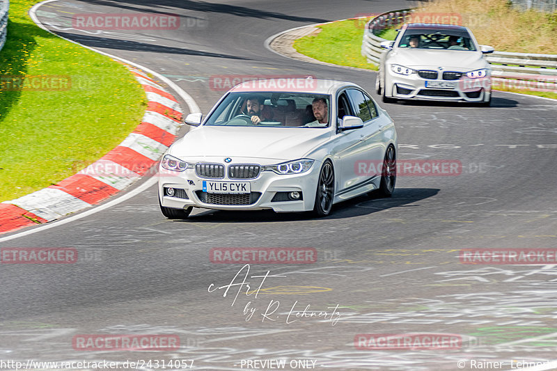
<svg viewBox="0 0 557 371">
<path fill-rule="evenodd" d="M 407 29 L 400 38 L 398 47 L 476 51 L 467 31 L 439 29 Z"/>
</svg>

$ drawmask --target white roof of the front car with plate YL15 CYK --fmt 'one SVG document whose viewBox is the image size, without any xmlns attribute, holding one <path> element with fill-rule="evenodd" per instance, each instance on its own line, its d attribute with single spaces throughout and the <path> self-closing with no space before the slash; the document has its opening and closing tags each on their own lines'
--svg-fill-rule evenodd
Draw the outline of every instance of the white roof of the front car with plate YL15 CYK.
<svg viewBox="0 0 557 371">
<path fill-rule="evenodd" d="M 253 79 L 244 81 L 242 84 L 228 90 L 229 93 L 248 93 L 248 92 L 288 92 L 288 93 L 313 93 L 331 94 L 343 86 L 353 86 L 354 84 L 325 79 L 299 79 L 299 78 L 276 78 L 276 79 Z"/>
</svg>

